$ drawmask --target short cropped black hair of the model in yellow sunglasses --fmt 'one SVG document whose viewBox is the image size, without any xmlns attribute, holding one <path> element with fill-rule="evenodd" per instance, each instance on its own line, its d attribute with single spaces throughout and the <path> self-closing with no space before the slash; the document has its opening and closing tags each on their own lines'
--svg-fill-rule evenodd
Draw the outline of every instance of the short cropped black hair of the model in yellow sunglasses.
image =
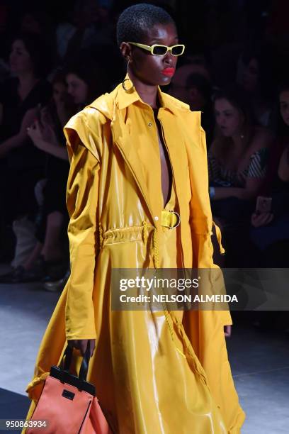
<svg viewBox="0 0 289 434">
<path fill-rule="evenodd" d="M 122 42 L 140 43 L 147 29 L 156 24 L 169 24 L 176 26 L 169 13 L 159 6 L 140 3 L 125 9 L 118 18 L 116 38 L 118 46 Z"/>
</svg>

